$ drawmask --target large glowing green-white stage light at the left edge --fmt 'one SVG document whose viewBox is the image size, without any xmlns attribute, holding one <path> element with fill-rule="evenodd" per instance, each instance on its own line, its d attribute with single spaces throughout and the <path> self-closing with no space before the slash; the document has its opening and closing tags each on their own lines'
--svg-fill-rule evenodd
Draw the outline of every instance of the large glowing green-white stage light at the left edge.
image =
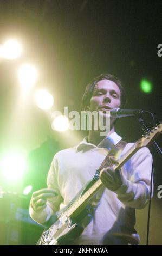
<svg viewBox="0 0 162 256">
<path fill-rule="evenodd" d="M 24 157 L 18 153 L 10 153 L 2 159 L 2 173 L 8 180 L 22 178 L 25 170 Z"/>
</svg>

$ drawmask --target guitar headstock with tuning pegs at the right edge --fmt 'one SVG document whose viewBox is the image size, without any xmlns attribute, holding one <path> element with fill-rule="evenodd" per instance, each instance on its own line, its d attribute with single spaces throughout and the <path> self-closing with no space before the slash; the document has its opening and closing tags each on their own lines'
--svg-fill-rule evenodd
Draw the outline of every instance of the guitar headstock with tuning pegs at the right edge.
<svg viewBox="0 0 162 256">
<path fill-rule="evenodd" d="M 149 144 L 154 141 L 155 137 L 157 137 L 160 133 L 162 133 L 162 124 L 161 122 L 156 126 L 153 127 L 153 129 L 142 136 L 137 142 L 135 147 L 142 148 L 142 147 L 148 147 Z"/>
</svg>

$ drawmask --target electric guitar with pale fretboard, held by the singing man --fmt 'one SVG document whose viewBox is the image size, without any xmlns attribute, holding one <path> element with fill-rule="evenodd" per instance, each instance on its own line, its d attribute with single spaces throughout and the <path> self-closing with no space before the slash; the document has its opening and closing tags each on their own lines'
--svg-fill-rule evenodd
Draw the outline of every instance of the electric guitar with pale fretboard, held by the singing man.
<svg viewBox="0 0 162 256">
<path fill-rule="evenodd" d="M 118 164 L 114 164 L 113 168 L 120 169 L 132 155 L 140 148 L 149 147 L 154 139 L 162 133 L 161 123 L 157 125 L 149 133 L 145 134 L 133 146 L 118 159 Z M 80 221 L 89 214 L 89 200 L 96 192 L 103 187 L 100 180 L 99 171 L 92 180 L 83 187 L 73 200 L 63 209 L 55 212 L 49 221 L 44 223 L 44 231 L 37 242 L 37 245 L 67 245 L 83 232 Z"/>
</svg>

